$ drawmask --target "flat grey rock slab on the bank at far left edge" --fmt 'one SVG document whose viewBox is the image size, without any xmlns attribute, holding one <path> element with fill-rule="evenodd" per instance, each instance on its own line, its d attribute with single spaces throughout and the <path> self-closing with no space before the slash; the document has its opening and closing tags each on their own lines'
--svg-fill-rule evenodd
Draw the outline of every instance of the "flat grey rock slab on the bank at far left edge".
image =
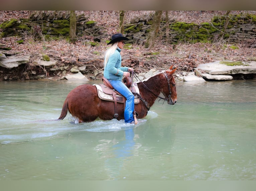
<svg viewBox="0 0 256 191">
<path fill-rule="evenodd" d="M 15 68 L 21 64 L 29 62 L 30 56 L 10 56 L 9 58 L 0 60 L 0 66 L 4 68 Z"/>
</svg>

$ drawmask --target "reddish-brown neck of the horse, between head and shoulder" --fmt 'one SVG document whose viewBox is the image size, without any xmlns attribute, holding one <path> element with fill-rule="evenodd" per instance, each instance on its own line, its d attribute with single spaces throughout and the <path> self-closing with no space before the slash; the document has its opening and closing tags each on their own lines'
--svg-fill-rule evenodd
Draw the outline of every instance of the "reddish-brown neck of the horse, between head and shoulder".
<svg viewBox="0 0 256 191">
<path fill-rule="evenodd" d="M 138 83 L 140 95 L 152 106 L 155 99 L 157 98 L 157 95 L 161 93 L 163 84 L 164 82 L 163 82 L 162 74 L 157 74 L 155 76 L 152 76 L 146 81 L 143 81 L 143 83 L 142 82 Z"/>
</svg>

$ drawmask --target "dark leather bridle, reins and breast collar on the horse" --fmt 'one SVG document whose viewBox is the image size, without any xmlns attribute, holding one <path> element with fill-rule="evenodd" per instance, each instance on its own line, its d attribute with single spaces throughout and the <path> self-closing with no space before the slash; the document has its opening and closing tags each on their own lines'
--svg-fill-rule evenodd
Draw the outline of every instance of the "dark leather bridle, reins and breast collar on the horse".
<svg viewBox="0 0 256 191">
<path fill-rule="evenodd" d="M 163 72 L 162 72 L 162 74 L 164 75 L 164 77 L 165 77 L 165 79 L 166 79 L 166 81 L 167 81 L 167 84 L 168 84 L 169 95 L 168 95 L 167 98 L 161 97 L 161 96 L 155 94 L 154 92 L 152 92 L 152 90 L 150 90 L 150 89 L 138 78 L 138 76 L 137 76 L 133 71 L 132 71 L 132 74 L 131 74 L 131 75 L 132 75 L 131 78 L 133 79 L 133 75 L 134 75 L 135 78 L 136 78 L 137 80 L 139 79 L 139 81 L 145 86 L 145 88 L 146 88 L 149 92 L 151 92 L 152 94 L 156 95 L 158 98 L 163 99 L 164 101 L 168 101 L 168 100 L 171 98 L 171 88 L 170 88 L 170 80 L 171 80 L 171 78 L 168 79 L 166 73 L 163 73 Z M 172 85 L 173 87 L 175 87 L 175 84 L 171 84 L 171 85 Z M 149 103 L 148 103 L 147 101 L 145 101 L 145 100 L 144 100 L 139 94 L 137 94 L 136 92 L 133 92 L 133 93 L 136 94 L 136 95 L 139 97 L 139 99 L 143 101 L 143 103 L 146 105 L 147 109 L 149 110 L 152 105 L 150 106 Z M 160 100 L 160 99 L 159 99 L 159 100 Z M 158 101 L 159 101 L 159 100 L 158 100 Z"/>
</svg>

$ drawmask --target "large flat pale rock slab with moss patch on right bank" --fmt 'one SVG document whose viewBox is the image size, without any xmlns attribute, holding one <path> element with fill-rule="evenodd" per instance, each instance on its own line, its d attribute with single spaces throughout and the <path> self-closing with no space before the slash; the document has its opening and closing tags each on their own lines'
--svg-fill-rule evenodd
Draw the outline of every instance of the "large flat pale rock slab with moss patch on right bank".
<svg viewBox="0 0 256 191">
<path fill-rule="evenodd" d="M 221 63 L 225 64 L 221 64 Z M 227 63 L 230 62 L 232 65 L 232 62 L 235 61 L 216 61 L 206 64 L 200 64 L 197 68 L 197 70 L 203 70 L 206 73 L 212 74 L 212 75 L 231 75 L 231 74 L 256 74 L 256 62 L 241 62 L 242 65 L 235 65 L 234 66 L 228 66 Z M 237 63 L 237 62 L 236 62 Z"/>
</svg>

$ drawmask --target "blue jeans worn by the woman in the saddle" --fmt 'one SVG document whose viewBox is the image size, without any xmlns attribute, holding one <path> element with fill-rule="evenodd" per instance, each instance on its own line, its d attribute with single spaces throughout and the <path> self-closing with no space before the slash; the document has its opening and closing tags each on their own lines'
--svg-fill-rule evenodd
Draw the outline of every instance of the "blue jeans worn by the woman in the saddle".
<svg viewBox="0 0 256 191">
<path fill-rule="evenodd" d="M 113 88 L 120 94 L 126 97 L 125 109 L 124 109 L 124 121 L 131 123 L 134 121 L 133 110 L 134 110 L 134 95 L 121 81 L 109 80 Z"/>
</svg>

